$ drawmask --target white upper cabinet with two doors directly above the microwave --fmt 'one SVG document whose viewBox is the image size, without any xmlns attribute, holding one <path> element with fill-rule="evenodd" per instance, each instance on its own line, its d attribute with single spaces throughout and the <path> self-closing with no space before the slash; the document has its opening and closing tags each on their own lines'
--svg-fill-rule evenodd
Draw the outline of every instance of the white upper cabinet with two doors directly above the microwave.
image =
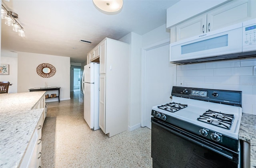
<svg viewBox="0 0 256 168">
<path fill-rule="evenodd" d="M 256 0 L 234 0 L 170 28 L 170 42 L 180 41 L 256 18 Z"/>
</svg>

